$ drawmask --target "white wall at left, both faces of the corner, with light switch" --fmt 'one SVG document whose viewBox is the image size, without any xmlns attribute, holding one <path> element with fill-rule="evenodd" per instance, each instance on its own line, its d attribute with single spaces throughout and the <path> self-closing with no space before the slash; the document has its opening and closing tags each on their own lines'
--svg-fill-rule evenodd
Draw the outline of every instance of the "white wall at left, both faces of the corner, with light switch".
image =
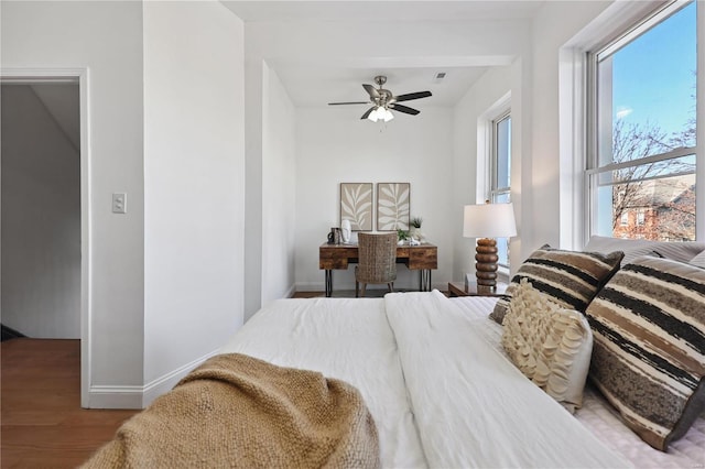
<svg viewBox="0 0 705 469">
<path fill-rule="evenodd" d="M 88 70 L 83 404 L 139 407 L 243 319 L 243 25 L 219 2 L 1 8 L 3 70 Z"/>
</svg>

